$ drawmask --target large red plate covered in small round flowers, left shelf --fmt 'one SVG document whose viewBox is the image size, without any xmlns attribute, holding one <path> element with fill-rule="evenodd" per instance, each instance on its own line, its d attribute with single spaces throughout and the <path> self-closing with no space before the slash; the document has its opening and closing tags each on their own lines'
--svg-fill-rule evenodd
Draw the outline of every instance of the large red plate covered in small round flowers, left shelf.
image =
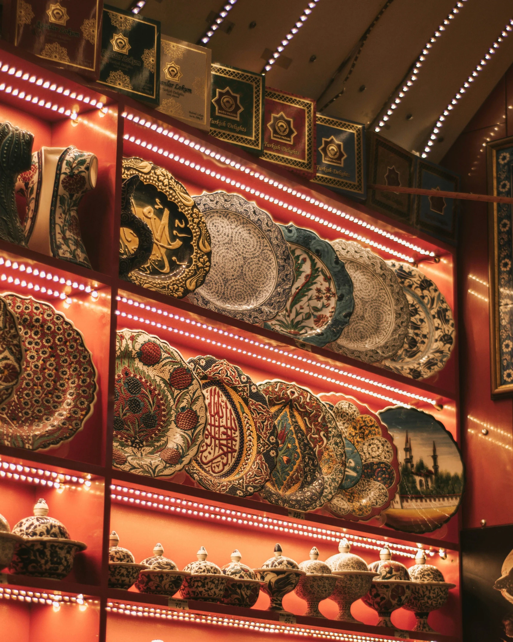
<svg viewBox="0 0 513 642">
<path fill-rule="evenodd" d="M 4 294 L 25 358 L 10 401 L 0 406 L 0 443 L 42 450 L 69 441 L 92 414 L 96 369 L 83 336 L 49 303 Z"/>
</svg>

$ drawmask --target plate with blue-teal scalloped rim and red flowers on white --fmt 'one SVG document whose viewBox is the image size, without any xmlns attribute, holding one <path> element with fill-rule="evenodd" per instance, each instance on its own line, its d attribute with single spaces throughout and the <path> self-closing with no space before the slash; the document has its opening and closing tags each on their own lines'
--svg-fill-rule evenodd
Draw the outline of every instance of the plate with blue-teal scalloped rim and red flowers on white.
<svg viewBox="0 0 513 642">
<path fill-rule="evenodd" d="M 323 347 L 335 341 L 354 308 L 353 283 L 328 241 L 295 225 L 280 225 L 294 259 L 285 308 L 265 327 Z"/>
</svg>

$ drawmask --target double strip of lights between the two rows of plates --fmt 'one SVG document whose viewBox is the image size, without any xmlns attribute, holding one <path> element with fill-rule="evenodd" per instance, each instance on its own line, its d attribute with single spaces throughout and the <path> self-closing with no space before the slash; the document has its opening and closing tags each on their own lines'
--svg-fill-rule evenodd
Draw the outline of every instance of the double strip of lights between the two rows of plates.
<svg viewBox="0 0 513 642">
<path fill-rule="evenodd" d="M 203 330 L 207 330 L 209 332 L 214 332 L 214 333 L 217 333 L 217 334 L 228 336 L 228 337 L 233 338 L 235 340 L 239 340 L 239 341 L 244 342 L 244 343 L 249 343 L 250 345 L 256 345 L 257 347 L 261 347 L 261 348 L 264 348 L 265 350 L 269 350 L 269 352 L 276 352 L 277 354 L 283 354 L 283 356 L 290 357 L 290 358 L 296 359 L 298 361 L 304 361 L 305 363 L 308 363 L 310 365 L 315 365 L 315 366 L 317 366 L 319 368 L 323 368 L 324 370 L 330 370 L 330 372 L 336 372 L 337 374 L 342 374 L 343 376 L 351 377 L 351 379 L 357 379 L 357 381 L 363 381 L 364 383 L 367 383 L 369 385 L 377 386 L 378 388 L 382 388 L 383 390 L 389 390 L 389 392 L 396 392 L 396 394 L 405 395 L 405 397 L 409 397 L 410 399 L 417 399 L 418 401 L 425 401 L 426 403 L 430 403 L 430 404 L 433 404 L 433 405 L 437 404 L 435 399 L 430 399 L 429 397 L 423 397 L 422 395 L 417 395 L 414 392 L 407 392 L 406 390 L 401 390 L 400 388 L 392 388 L 392 386 L 388 386 L 388 385 L 386 385 L 384 383 L 380 383 L 379 381 L 373 381 L 372 379 L 367 379 L 366 377 L 361 377 L 361 376 L 359 376 L 357 374 L 352 374 L 351 372 L 346 372 L 345 370 L 339 370 L 339 369 L 334 368 L 333 366 L 330 366 L 330 365 L 328 365 L 326 363 L 319 363 L 318 361 L 312 361 L 312 360 L 307 359 L 305 357 L 301 357 L 301 355 L 296 354 L 296 353 L 285 352 L 285 351 L 280 350 L 278 348 L 274 348 L 272 345 L 268 345 L 266 343 L 258 343 L 257 341 L 249 340 L 248 338 L 245 338 L 243 336 L 238 336 L 237 334 L 234 335 L 233 333 L 228 333 L 228 332 L 226 332 L 224 330 L 221 330 L 221 329 L 218 329 L 218 328 L 216 328 L 216 327 L 214 327 L 212 325 L 202 324 L 200 322 L 196 322 L 196 321 L 194 321 L 192 319 L 189 319 L 189 318 L 186 318 L 186 317 L 179 317 L 178 315 L 173 315 L 172 313 L 169 313 L 169 315 L 168 315 L 168 313 L 165 310 L 162 311 L 162 310 L 156 309 L 154 307 L 150 308 L 150 306 L 145 306 L 145 304 L 139 304 L 137 301 L 133 301 L 132 299 L 126 299 L 126 297 L 122 297 L 121 298 L 118 295 L 116 297 L 116 300 L 121 300 L 122 303 L 128 303 L 129 305 L 133 305 L 133 306 L 136 306 L 136 307 L 141 307 L 141 308 L 145 308 L 147 310 L 151 310 L 152 312 L 156 312 L 157 314 L 162 314 L 165 317 L 169 316 L 169 318 L 175 318 L 176 320 L 180 320 L 181 322 L 190 323 L 191 325 L 196 325 L 199 328 L 201 328 Z M 233 350 L 235 352 L 240 352 L 240 353 L 246 354 L 248 356 L 253 356 L 253 357 L 255 357 L 257 359 L 260 359 L 262 361 L 269 361 L 271 363 L 275 363 L 276 365 L 281 365 L 282 367 L 286 367 L 286 368 L 289 368 L 291 370 L 298 370 L 299 372 L 304 372 L 305 374 L 309 374 L 310 376 L 313 376 L 313 377 L 319 377 L 320 379 L 324 379 L 326 381 L 329 381 L 330 383 L 337 383 L 337 384 L 339 384 L 341 386 L 344 386 L 346 388 L 350 388 L 351 390 L 357 390 L 357 392 L 362 392 L 364 394 L 372 395 L 373 397 L 377 397 L 378 399 L 382 399 L 383 401 L 390 401 L 391 403 L 394 403 L 394 404 L 398 404 L 398 405 L 401 405 L 401 406 L 407 406 L 407 404 L 405 404 L 405 403 L 403 403 L 401 401 L 397 401 L 396 399 L 391 399 L 390 397 L 385 397 L 385 395 L 377 394 L 376 392 L 371 392 L 370 390 L 365 390 L 364 388 L 359 388 L 357 386 L 344 384 L 344 383 L 342 383 L 340 381 L 335 381 L 335 379 L 331 379 L 330 377 L 326 377 L 324 375 L 319 375 L 319 374 L 317 374 L 315 372 L 308 372 L 308 370 L 299 369 L 299 368 L 296 368 L 294 366 L 287 365 L 285 363 L 280 363 L 280 361 L 271 360 L 269 358 L 262 357 L 262 356 L 260 356 L 258 354 L 255 355 L 255 354 L 253 354 L 251 352 L 247 352 L 246 350 L 241 350 L 240 348 L 234 348 L 233 346 L 227 345 L 226 343 L 220 343 L 220 342 L 212 341 L 212 340 L 210 340 L 208 338 L 206 339 L 205 337 L 201 337 L 201 336 L 198 336 L 196 334 L 184 332 L 184 331 L 182 331 L 180 329 L 177 329 L 177 328 L 174 328 L 174 327 L 171 327 L 171 326 L 167 326 L 167 325 L 164 325 L 164 324 L 156 323 L 155 321 L 150 321 L 150 320 L 144 319 L 142 317 L 137 317 L 137 316 L 128 314 L 126 312 L 121 312 L 119 310 L 116 310 L 115 314 L 116 315 L 120 315 L 121 317 L 126 317 L 126 318 L 129 318 L 129 319 L 133 319 L 134 321 L 139 321 L 141 323 L 145 323 L 145 324 L 148 324 L 148 325 L 155 325 L 156 327 L 162 328 L 164 330 L 169 330 L 170 332 L 174 332 L 174 333 L 178 333 L 178 334 L 184 334 L 185 336 L 190 336 L 190 337 L 195 338 L 195 339 L 197 339 L 199 341 L 204 341 L 206 343 L 212 343 L 212 345 L 219 345 L 220 347 L 223 347 L 223 348 L 226 348 L 226 349 L 229 349 L 229 350 Z"/>
</svg>

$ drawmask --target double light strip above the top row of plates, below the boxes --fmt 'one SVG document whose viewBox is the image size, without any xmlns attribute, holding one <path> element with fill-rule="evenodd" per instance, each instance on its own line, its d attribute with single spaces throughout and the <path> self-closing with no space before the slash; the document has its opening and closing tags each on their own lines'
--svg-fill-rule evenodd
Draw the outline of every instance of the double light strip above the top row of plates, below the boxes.
<svg viewBox="0 0 513 642">
<path fill-rule="evenodd" d="M 163 136 L 167 136 L 169 138 L 172 138 L 174 141 L 178 141 L 178 143 L 184 144 L 187 147 L 194 148 L 194 150 L 199 151 L 200 153 L 205 153 L 206 155 L 210 156 L 212 159 L 219 160 L 219 162 L 224 162 L 227 166 L 230 166 L 233 169 L 242 171 L 246 174 L 249 174 L 252 177 L 258 178 L 259 180 L 264 181 L 265 183 L 268 183 L 269 185 L 272 185 L 274 187 L 277 187 L 278 189 L 282 189 L 284 192 L 287 192 L 291 196 L 295 196 L 296 198 L 299 198 L 301 200 L 306 201 L 307 203 L 310 203 L 312 205 L 315 205 L 315 207 L 319 207 L 319 209 L 326 210 L 330 213 L 336 214 L 337 216 L 341 216 L 342 218 L 346 218 L 347 220 L 357 224 L 357 225 L 362 225 L 362 227 L 371 230 L 372 232 L 375 232 L 376 234 L 380 234 L 384 238 L 390 239 L 391 241 L 394 241 L 394 243 L 399 243 L 399 245 L 402 245 L 403 247 L 407 247 L 411 250 L 414 250 L 415 252 L 419 252 L 419 254 L 423 254 L 425 256 L 430 256 L 434 257 L 435 252 L 430 252 L 429 250 L 425 250 L 418 245 L 414 245 L 414 243 L 410 243 L 409 241 L 405 241 L 405 239 L 398 238 L 394 234 L 391 234 L 390 232 L 387 232 L 386 230 L 381 229 L 380 227 L 377 227 L 376 225 L 370 225 L 366 221 L 362 221 L 356 216 L 351 216 L 349 214 L 346 214 L 345 212 L 342 212 L 341 210 L 335 209 L 335 207 L 332 207 L 332 205 L 328 205 L 326 203 L 323 203 L 322 201 L 319 201 L 315 198 L 312 198 L 311 196 L 307 196 L 296 189 L 292 189 L 292 187 L 287 187 L 286 185 L 283 185 L 282 183 L 278 182 L 277 180 L 274 180 L 273 178 L 268 178 L 265 176 L 265 174 L 259 173 L 258 171 L 253 171 L 251 168 L 244 166 L 241 164 L 239 161 L 235 160 L 230 160 L 229 158 L 225 157 L 219 152 L 214 152 L 211 151 L 205 146 L 200 145 L 199 143 L 194 143 L 194 141 L 190 141 L 187 139 L 187 137 L 184 137 L 180 132 L 172 132 L 170 130 L 164 129 L 162 126 L 157 125 L 156 123 L 151 123 L 149 120 L 145 120 L 144 118 L 139 118 L 139 116 L 134 116 L 133 114 L 128 114 L 128 112 L 122 112 L 121 114 L 122 117 L 126 118 L 129 121 L 133 121 L 134 123 L 138 124 L 139 126 L 145 126 L 157 134 L 161 134 Z M 181 163 L 185 163 L 187 166 L 192 167 L 193 169 L 198 169 L 201 171 L 205 171 L 206 174 L 215 176 L 217 178 L 217 175 L 215 171 L 210 171 L 210 169 L 205 169 L 202 168 L 199 164 L 194 164 L 194 162 L 190 162 L 190 160 L 187 159 L 180 159 L 180 157 L 174 156 L 172 153 L 170 153 L 168 150 L 164 150 L 163 148 L 159 148 L 156 145 L 151 145 L 149 143 L 142 143 L 140 139 L 135 139 L 134 136 L 130 136 L 129 134 L 124 135 L 124 139 L 126 141 L 130 141 L 131 143 L 139 144 L 142 147 L 146 147 L 147 149 L 151 150 L 152 152 L 157 152 L 159 154 L 164 155 L 165 157 L 173 158 L 175 160 L 178 160 Z M 224 180 L 226 182 L 230 182 L 230 184 L 237 185 L 235 181 L 231 181 L 231 179 L 227 179 L 226 177 L 222 177 L 220 175 L 220 180 Z M 246 190 L 246 187 L 244 187 Z M 249 193 L 255 193 L 256 195 L 262 195 L 265 200 L 267 200 L 266 196 L 264 193 L 257 193 L 255 190 L 251 192 L 251 189 L 247 189 L 246 191 L 249 191 Z M 269 196 L 269 201 L 271 203 L 276 203 L 278 205 L 282 205 L 284 209 L 290 209 L 294 212 L 298 212 L 300 214 L 303 214 L 303 211 L 300 209 L 294 209 L 292 205 L 288 205 L 286 203 L 280 202 L 278 199 L 273 199 L 271 196 Z M 307 216 L 307 212 L 303 214 L 303 216 Z M 313 220 L 316 220 L 316 222 L 319 222 L 323 225 L 326 225 L 328 227 L 335 227 L 333 223 L 329 223 L 328 221 L 324 221 L 322 218 L 319 219 L 318 217 L 315 217 L 314 214 L 310 214 L 308 218 L 311 218 Z M 337 228 L 335 228 L 337 229 Z M 358 237 L 355 235 L 355 238 L 358 238 L 359 240 L 364 240 L 363 237 Z M 366 241 L 367 242 L 367 241 Z M 394 254 L 394 250 L 391 250 L 390 248 L 387 248 L 383 245 L 380 245 L 379 243 L 374 243 L 374 241 L 369 241 L 369 245 L 372 245 L 373 247 L 378 248 L 379 250 L 383 250 L 384 252 L 389 252 L 389 254 Z M 398 253 L 399 255 L 399 253 Z M 405 257 L 405 255 L 400 254 L 399 255 L 401 258 Z M 410 263 L 413 261 L 411 257 L 405 257 L 406 261 L 409 261 Z"/>
</svg>

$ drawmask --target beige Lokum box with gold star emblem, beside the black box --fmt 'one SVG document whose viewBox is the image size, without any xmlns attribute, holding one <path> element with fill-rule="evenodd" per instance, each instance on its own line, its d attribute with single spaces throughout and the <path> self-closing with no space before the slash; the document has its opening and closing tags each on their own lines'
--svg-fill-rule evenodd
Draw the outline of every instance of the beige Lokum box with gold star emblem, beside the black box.
<svg viewBox="0 0 513 642">
<path fill-rule="evenodd" d="M 210 129 L 212 51 L 170 36 L 160 39 L 160 105 L 183 123 Z"/>
</svg>

